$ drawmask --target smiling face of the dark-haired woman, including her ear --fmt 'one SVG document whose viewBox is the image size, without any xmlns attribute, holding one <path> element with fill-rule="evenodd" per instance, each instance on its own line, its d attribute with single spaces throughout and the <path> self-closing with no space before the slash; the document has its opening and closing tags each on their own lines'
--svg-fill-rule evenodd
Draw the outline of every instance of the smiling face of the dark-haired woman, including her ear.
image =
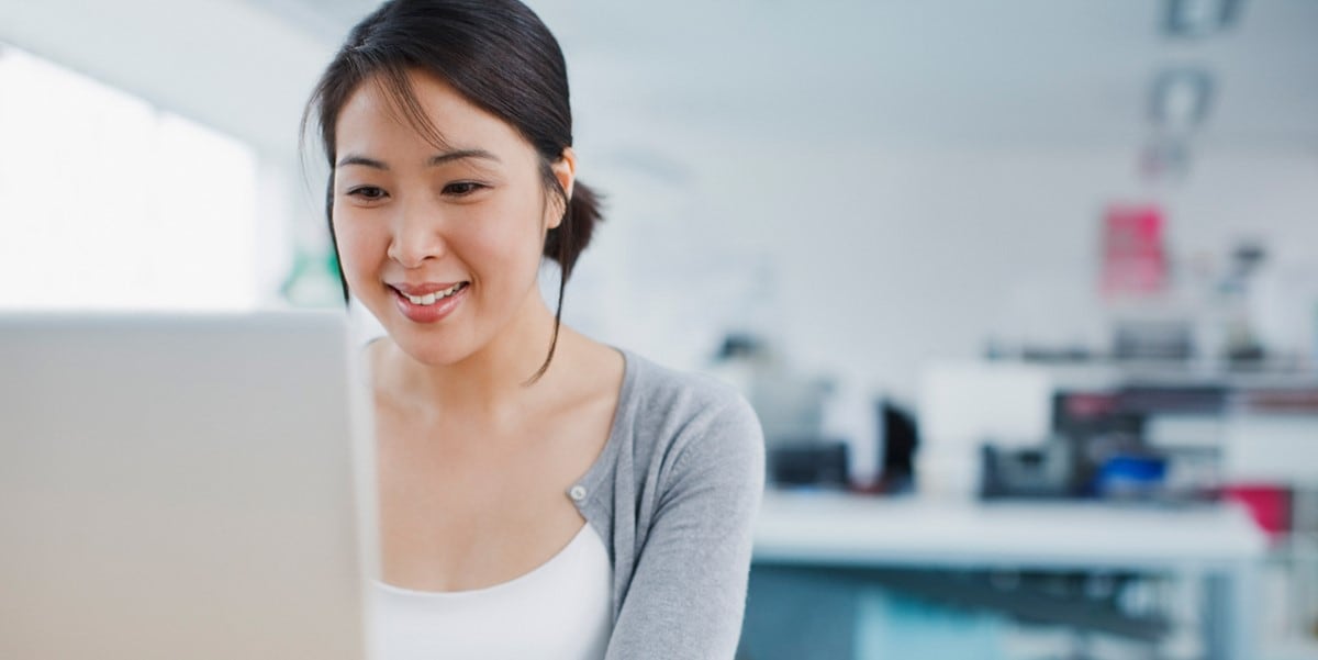
<svg viewBox="0 0 1318 660">
<path fill-rule="evenodd" d="M 335 125 L 333 227 L 353 294 L 414 358 L 471 356 L 527 331 L 546 232 L 561 217 L 535 149 L 443 80 L 410 75 L 444 146 L 426 140 L 374 80 Z M 571 191 L 572 158 L 554 163 Z M 539 335 L 536 335 L 539 337 Z"/>
</svg>

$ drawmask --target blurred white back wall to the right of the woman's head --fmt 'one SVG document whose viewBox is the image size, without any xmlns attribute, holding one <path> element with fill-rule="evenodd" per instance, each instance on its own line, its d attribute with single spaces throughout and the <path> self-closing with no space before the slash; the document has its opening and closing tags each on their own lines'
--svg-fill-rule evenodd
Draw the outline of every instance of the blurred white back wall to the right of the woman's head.
<svg viewBox="0 0 1318 660">
<path fill-rule="evenodd" d="M 1106 346 L 1095 282 L 1111 202 L 1162 203 L 1177 258 L 1257 236 L 1318 282 L 1314 153 L 1206 150 L 1181 184 L 1149 187 L 1133 149 L 735 146 L 676 182 L 585 174 L 614 203 L 569 319 L 687 366 L 750 325 L 803 368 L 909 394 L 925 361 L 977 356 L 988 337 Z M 1310 349 L 1318 290 L 1294 302 L 1307 314 L 1273 325 Z"/>
</svg>

